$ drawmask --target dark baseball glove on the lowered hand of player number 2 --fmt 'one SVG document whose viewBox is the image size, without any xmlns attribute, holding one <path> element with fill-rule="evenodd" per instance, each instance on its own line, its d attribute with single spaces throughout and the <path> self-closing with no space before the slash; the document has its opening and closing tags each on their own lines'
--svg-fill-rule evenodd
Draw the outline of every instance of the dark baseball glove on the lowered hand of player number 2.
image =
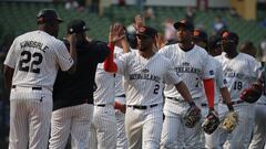
<svg viewBox="0 0 266 149">
<path fill-rule="evenodd" d="M 186 114 L 184 115 L 184 124 L 186 127 L 193 128 L 201 120 L 201 109 L 196 105 L 193 105 L 187 109 Z"/>
</svg>

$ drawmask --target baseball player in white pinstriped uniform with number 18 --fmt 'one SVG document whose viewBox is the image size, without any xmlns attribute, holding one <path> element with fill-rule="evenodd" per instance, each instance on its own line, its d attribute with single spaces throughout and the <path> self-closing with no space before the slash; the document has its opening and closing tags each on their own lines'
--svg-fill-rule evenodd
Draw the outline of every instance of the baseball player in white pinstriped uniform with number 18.
<svg viewBox="0 0 266 149">
<path fill-rule="evenodd" d="M 247 104 L 239 99 L 239 95 L 248 84 L 258 77 L 259 63 L 252 56 L 237 52 L 238 35 L 234 32 L 224 32 L 222 35 L 222 55 L 216 58 L 222 63 L 232 104 L 238 114 L 238 125 L 228 135 L 221 130 L 219 141 L 226 149 L 246 149 L 249 145 L 254 121 L 254 104 Z M 226 106 L 218 105 L 219 115 L 224 117 Z M 225 141 L 224 141 L 225 140 Z"/>
</svg>

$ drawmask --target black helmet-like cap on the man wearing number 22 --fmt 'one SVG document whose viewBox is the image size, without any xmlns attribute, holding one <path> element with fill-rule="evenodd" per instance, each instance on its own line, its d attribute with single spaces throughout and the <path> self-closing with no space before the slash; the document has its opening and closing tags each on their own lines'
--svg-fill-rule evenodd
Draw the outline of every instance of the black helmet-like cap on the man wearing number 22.
<svg viewBox="0 0 266 149">
<path fill-rule="evenodd" d="M 38 24 L 52 21 L 63 22 L 63 20 L 59 17 L 58 12 L 54 9 L 42 9 L 37 14 Z"/>
</svg>

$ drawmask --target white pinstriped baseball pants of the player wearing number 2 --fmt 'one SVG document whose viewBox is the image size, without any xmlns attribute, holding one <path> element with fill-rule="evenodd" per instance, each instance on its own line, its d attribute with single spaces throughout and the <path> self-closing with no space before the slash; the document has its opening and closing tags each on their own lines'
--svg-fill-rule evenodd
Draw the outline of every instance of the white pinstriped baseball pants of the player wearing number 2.
<svg viewBox="0 0 266 149">
<path fill-rule="evenodd" d="M 158 149 L 163 125 L 163 106 L 146 109 L 126 107 L 125 134 L 129 149 Z"/>
</svg>

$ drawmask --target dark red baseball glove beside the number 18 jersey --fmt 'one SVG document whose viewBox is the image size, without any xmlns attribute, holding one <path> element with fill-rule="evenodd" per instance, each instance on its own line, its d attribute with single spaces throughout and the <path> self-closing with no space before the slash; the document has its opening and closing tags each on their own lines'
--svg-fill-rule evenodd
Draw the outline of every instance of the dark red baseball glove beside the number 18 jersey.
<svg viewBox="0 0 266 149">
<path fill-rule="evenodd" d="M 254 83 L 249 85 L 248 88 L 245 88 L 241 94 L 241 99 L 245 100 L 246 103 L 255 103 L 262 96 L 263 86 Z"/>
</svg>

